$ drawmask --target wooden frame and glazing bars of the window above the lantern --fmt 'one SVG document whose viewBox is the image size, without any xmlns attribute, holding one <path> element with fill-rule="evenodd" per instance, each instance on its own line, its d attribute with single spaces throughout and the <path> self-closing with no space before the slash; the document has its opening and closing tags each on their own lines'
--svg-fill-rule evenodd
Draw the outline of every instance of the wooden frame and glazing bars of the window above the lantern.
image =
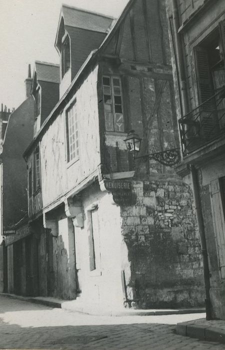
<svg viewBox="0 0 225 350">
<path fill-rule="evenodd" d="M 107 78 L 110 81 L 110 85 L 105 85 L 103 83 L 103 79 Z M 120 88 L 120 94 L 115 94 L 114 93 L 114 87 L 117 87 L 117 85 L 114 85 L 113 79 L 118 79 L 119 80 L 119 88 Z M 111 97 L 111 103 L 105 103 L 104 96 L 109 95 L 109 93 L 104 93 L 104 86 L 110 87 L 110 97 Z M 102 96 L 103 96 L 103 107 L 104 107 L 104 121 L 105 121 L 105 131 L 106 132 L 118 132 L 118 133 L 124 133 L 125 132 L 125 117 L 124 117 L 124 107 L 123 107 L 123 95 L 122 95 L 122 81 L 121 77 L 119 75 L 107 75 L 103 74 L 102 75 Z M 121 104 L 120 103 L 115 103 L 115 97 L 120 97 L 121 99 Z M 105 109 L 105 105 L 111 105 L 111 111 Z M 116 112 L 115 107 L 121 105 L 121 112 Z M 113 129 L 107 128 L 107 120 L 106 120 L 106 113 L 112 113 L 112 123 L 113 123 Z M 122 115 L 122 122 L 120 124 L 123 125 L 122 130 L 116 129 L 117 121 L 116 121 L 116 114 L 121 114 Z"/>
</svg>

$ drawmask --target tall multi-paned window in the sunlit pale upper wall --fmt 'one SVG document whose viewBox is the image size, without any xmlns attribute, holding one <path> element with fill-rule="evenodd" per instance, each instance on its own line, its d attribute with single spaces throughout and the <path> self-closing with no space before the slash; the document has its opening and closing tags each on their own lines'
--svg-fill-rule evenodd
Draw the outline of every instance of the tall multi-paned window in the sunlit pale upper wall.
<svg viewBox="0 0 225 350">
<path fill-rule="evenodd" d="M 73 115 L 69 115 L 73 110 Z M 72 123 L 73 121 L 73 123 Z M 72 131 L 74 126 L 74 131 Z M 66 109 L 66 144 L 67 144 L 67 163 L 72 163 L 79 159 L 79 130 L 78 117 L 76 110 L 76 100 Z M 74 140 L 72 139 L 74 135 Z M 71 147 L 74 149 L 71 151 Z"/>
</svg>

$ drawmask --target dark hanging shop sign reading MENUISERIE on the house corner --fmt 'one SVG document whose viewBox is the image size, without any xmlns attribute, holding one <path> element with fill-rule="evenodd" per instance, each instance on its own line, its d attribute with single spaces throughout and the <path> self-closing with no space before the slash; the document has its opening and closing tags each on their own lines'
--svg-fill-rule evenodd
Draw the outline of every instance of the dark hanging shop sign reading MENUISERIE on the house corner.
<svg viewBox="0 0 225 350">
<path fill-rule="evenodd" d="M 104 180 L 107 191 L 112 193 L 113 200 L 118 205 L 131 205 L 134 197 L 131 182 L 126 180 Z"/>
</svg>

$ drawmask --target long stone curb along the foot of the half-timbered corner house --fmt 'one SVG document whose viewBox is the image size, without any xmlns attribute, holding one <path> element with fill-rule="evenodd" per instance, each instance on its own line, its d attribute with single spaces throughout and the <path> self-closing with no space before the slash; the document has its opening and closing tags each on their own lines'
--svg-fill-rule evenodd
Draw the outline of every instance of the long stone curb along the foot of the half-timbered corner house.
<svg viewBox="0 0 225 350">
<path fill-rule="evenodd" d="M 7 296 L 14 299 L 39 303 L 49 307 L 63 308 L 67 311 L 76 311 L 81 313 L 93 314 L 93 315 L 108 315 L 108 316 L 160 316 L 160 315 L 172 315 L 172 314 L 187 314 L 187 313 L 202 313 L 205 312 L 203 307 L 198 308 L 185 308 L 185 309 L 119 309 L 119 310 L 110 310 L 110 309 L 100 309 L 97 307 L 83 306 L 81 304 L 75 305 L 72 302 L 74 300 L 60 300 L 56 298 L 47 297 L 29 297 L 29 296 L 20 296 L 15 294 L 0 293 L 0 296 Z M 53 300 L 52 300 L 53 299 Z"/>
</svg>

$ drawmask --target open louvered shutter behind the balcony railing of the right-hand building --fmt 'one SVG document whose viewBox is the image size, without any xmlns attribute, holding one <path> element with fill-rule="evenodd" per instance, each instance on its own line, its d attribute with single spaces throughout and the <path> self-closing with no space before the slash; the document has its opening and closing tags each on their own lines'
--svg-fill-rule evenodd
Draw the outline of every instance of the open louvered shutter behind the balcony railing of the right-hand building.
<svg viewBox="0 0 225 350">
<path fill-rule="evenodd" d="M 199 104 L 213 95 L 211 72 L 209 69 L 208 53 L 203 47 L 195 47 L 196 76 Z M 214 111 L 213 111 L 214 110 Z M 200 108 L 200 135 L 211 138 L 215 133 L 215 105 L 213 99 L 204 103 Z"/>
</svg>

